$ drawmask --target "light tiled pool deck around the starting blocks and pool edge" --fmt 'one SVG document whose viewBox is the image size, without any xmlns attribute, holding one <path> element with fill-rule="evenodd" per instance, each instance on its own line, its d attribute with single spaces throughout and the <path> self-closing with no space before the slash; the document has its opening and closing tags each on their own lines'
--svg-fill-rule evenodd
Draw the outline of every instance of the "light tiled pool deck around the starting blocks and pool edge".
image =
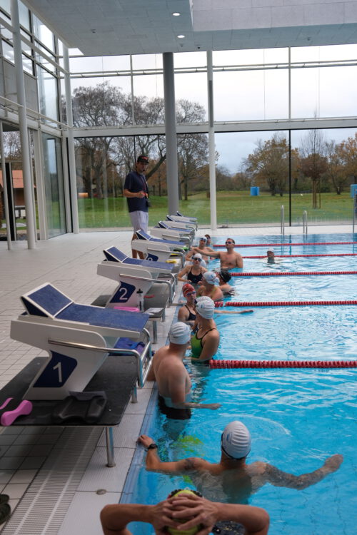
<svg viewBox="0 0 357 535">
<path fill-rule="evenodd" d="M 309 233 L 351 233 L 351 225 L 311 227 Z M 280 228 L 224 228 L 199 234 L 279 235 Z M 288 234 L 302 228 L 286 228 Z M 116 245 L 130 254 L 131 232 L 67 234 L 28 250 L 17 242 L 12 250 L 0 242 L 0 387 L 34 357 L 44 352 L 11 340 L 10 321 L 23 312 L 19 296 L 51 282 L 77 302 L 89 304 L 114 289 L 114 282 L 96 275 L 102 250 Z M 176 298 L 177 298 L 176 294 Z M 158 324 L 164 345 L 176 307 Z M 0 492 L 9 494 L 11 519 L 1 535 L 100 535 L 99 511 L 118 502 L 146 414 L 153 384 L 139 390 L 139 403 L 129 402 L 114 429 L 116 467 L 106 467 L 106 444 L 100 429 L 62 427 L 0 427 Z M 1 400 L 0 400 L 1 401 Z"/>
</svg>

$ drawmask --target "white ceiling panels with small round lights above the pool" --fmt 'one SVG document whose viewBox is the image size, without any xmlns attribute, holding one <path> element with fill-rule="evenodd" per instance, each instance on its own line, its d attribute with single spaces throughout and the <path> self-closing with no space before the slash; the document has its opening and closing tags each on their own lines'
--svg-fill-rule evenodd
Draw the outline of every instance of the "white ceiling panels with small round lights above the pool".
<svg viewBox="0 0 357 535">
<path fill-rule="evenodd" d="M 356 0 L 24 2 L 85 56 L 357 43 Z"/>
</svg>

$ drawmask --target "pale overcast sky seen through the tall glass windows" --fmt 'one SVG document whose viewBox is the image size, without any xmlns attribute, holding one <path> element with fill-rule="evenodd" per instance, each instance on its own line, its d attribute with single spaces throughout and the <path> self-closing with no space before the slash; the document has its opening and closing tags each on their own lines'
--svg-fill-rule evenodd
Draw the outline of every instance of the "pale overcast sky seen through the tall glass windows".
<svg viewBox="0 0 357 535">
<path fill-rule="evenodd" d="M 313 46 L 291 49 L 291 61 L 356 60 L 357 45 Z M 256 49 L 213 52 L 213 66 L 273 64 L 288 61 L 288 49 Z M 174 54 L 175 68 L 206 66 L 206 52 Z M 134 69 L 161 68 L 161 54 L 133 56 Z M 129 56 L 79 58 L 71 60 L 71 71 L 110 71 L 130 68 Z M 93 86 L 107 80 L 125 92 L 131 91 L 129 76 L 81 78 L 72 80 L 72 88 Z M 291 70 L 291 117 L 357 116 L 356 66 L 293 68 Z M 207 110 L 206 73 L 175 75 L 176 100 L 186 98 Z M 164 96 L 162 76 L 134 76 L 134 94 L 148 98 Z M 224 71 L 213 76 L 215 121 L 259 121 L 288 117 L 288 69 Z M 337 142 L 354 136 L 354 129 L 324 131 L 326 139 Z M 291 135 L 299 146 L 304 131 Z M 216 133 L 218 164 L 236 173 L 241 161 L 256 147 L 256 141 L 271 138 L 272 132 Z"/>
</svg>

